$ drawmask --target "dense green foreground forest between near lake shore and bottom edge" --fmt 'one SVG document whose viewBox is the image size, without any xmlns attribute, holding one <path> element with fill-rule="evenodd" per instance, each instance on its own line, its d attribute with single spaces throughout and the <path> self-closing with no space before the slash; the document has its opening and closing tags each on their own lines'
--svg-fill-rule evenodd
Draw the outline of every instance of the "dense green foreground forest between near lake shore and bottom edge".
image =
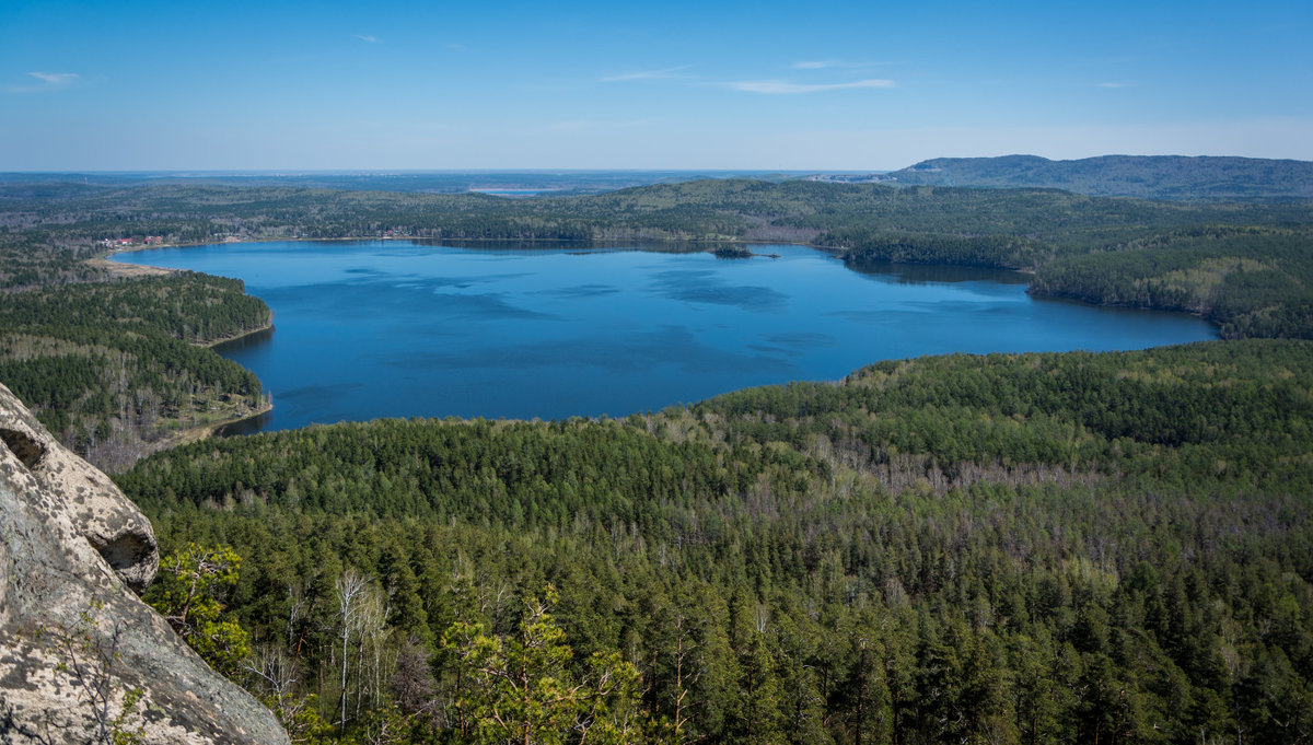
<svg viewBox="0 0 1313 745">
<path fill-rule="evenodd" d="M 892 361 L 618 421 L 201 442 L 118 481 L 165 551 L 243 557 L 235 675 L 306 737 L 1306 742 L 1310 371 L 1295 341 Z"/>
</svg>

